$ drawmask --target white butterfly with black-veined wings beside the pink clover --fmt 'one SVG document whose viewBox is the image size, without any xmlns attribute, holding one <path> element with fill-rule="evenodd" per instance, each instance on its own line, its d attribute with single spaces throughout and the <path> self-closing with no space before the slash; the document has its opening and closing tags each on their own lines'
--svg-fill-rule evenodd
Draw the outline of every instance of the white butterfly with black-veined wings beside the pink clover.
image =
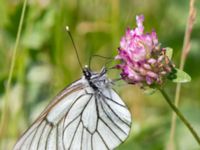
<svg viewBox="0 0 200 150">
<path fill-rule="evenodd" d="M 131 114 L 103 68 L 60 92 L 14 150 L 112 150 L 128 137 Z"/>
</svg>

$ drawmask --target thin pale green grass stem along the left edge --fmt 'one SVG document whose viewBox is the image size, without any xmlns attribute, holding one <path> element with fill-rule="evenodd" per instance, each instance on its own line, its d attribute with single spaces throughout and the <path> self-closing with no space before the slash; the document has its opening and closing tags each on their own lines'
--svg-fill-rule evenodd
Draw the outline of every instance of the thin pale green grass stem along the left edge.
<svg viewBox="0 0 200 150">
<path fill-rule="evenodd" d="M 18 45 L 19 45 L 19 39 L 20 39 L 20 36 L 21 36 L 22 26 L 23 26 L 23 22 L 24 22 L 26 6 L 27 6 L 27 0 L 24 0 L 22 13 L 21 13 L 21 16 L 20 16 L 20 22 L 19 22 L 19 26 L 18 26 L 18 30 L 17 30 L 17 37 L 16 37 L 14 49 L 13 49 L 12 58 L 11 58 L 11 66 L 10 66 L 10 69 L 9 69 L 8 81 L 7 81 L 7 84 L 6 84 L 4 106 L 2 108 L 0 137 L 4 136 L 5 132 L 8 131 L 6 128 L 7 128 L 7 124 L 8 124 L 7 121 L 9 121 L 8 105 L 9 105 L 10 87 L 11 87 L 11 81 L 12 81 L 12 76 L 13 76 L 13 72 L 14 72 L 15 62 L 16 62 L 17 48 L 18 48 Z"/>
</svg>

